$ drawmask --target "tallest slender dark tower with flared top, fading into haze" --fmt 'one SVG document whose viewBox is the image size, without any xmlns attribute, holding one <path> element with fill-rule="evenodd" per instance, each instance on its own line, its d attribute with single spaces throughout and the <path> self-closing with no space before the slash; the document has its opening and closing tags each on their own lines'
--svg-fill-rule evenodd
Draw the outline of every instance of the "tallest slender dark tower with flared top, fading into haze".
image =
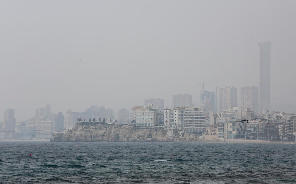
<svg viewBox="0 0 296 184">
<path fill-rule="evenodd" d="M 260 47 L 260 112 L 270 110 L 270 46 L 271 42 L 259 43 Z"/>
</svg>

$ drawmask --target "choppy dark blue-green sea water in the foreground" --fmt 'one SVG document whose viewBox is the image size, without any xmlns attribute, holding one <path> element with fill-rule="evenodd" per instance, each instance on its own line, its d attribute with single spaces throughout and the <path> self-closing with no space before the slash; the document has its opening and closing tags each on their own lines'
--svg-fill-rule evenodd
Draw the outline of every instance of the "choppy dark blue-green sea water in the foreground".
<svg viewBox="0 0 296 184">
<path fill-rule="evenodd" d="M 296 183 L 296 144 L 0 142 L 0 183 Z"/>
</svg>

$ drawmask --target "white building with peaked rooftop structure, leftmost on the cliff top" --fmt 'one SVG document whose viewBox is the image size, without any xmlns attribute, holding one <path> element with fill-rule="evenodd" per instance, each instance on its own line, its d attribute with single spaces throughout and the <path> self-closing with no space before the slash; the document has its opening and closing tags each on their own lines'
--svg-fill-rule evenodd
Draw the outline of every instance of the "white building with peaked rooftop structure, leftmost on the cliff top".
<svg viewBox="0 0 296 184">
<path fill-rule="evenodd" d="M 136 126 L 156 126 L 157 124 L 157 109 L 152 104 L 136 109 Z"/>
</svg>

